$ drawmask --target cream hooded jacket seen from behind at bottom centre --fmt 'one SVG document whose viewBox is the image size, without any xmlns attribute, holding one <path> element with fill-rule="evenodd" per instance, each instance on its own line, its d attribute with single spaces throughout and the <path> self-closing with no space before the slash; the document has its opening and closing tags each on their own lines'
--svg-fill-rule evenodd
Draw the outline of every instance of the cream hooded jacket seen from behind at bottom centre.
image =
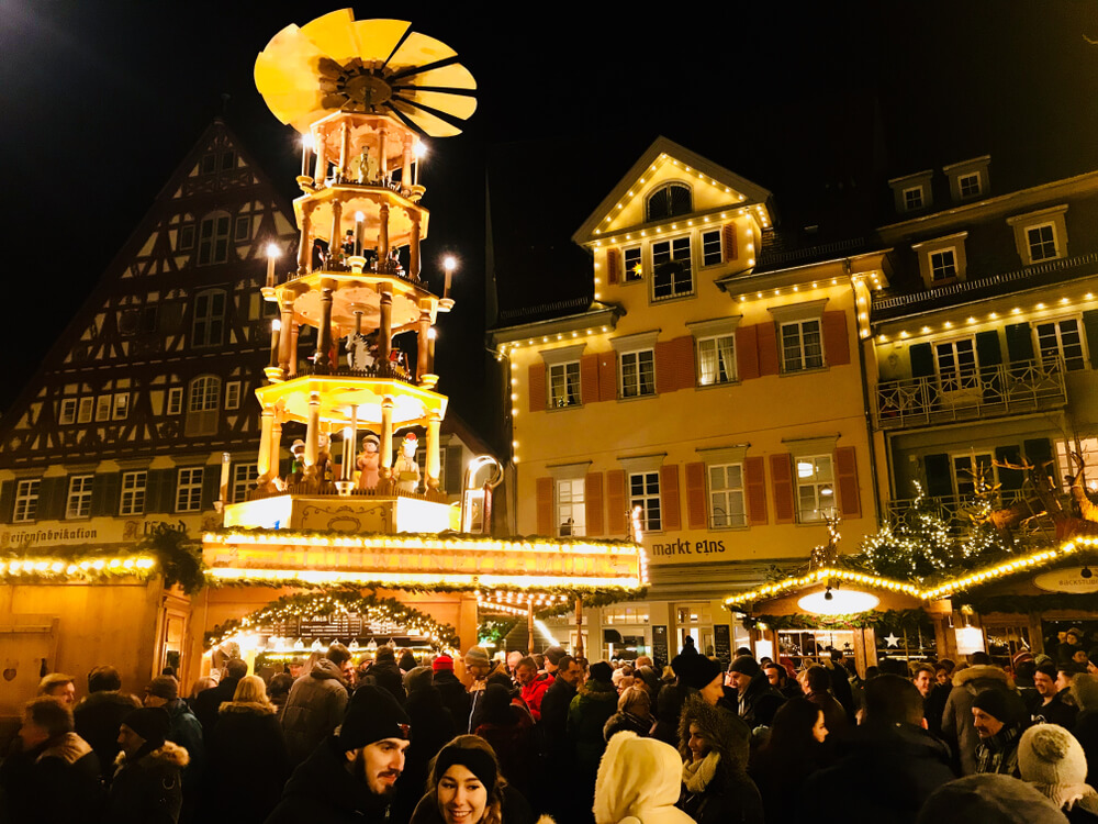
<svg viewBox="0 0 1098 824">
<path fill-rule="evenodd" d="M 682 759 L 674 747 L 618 733 L 598 765 L 595 824 L 694 824 L 675 806 L 681 777 Z"/>
</svg>

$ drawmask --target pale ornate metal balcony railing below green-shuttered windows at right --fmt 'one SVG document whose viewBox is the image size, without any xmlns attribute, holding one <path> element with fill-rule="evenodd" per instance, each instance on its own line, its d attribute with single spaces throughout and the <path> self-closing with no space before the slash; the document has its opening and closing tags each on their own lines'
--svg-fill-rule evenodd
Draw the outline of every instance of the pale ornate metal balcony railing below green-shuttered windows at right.
<svg viewBox="0 0 1098 824">
<path fill-rule="evenodd" d="M 1060 358 L 1021 360 L 929 378 L 886 380 L 877 385 L 874 401 L 878 430 L 1056 409 L 1067 403 L 1064 363 Z"/>
</svg>

